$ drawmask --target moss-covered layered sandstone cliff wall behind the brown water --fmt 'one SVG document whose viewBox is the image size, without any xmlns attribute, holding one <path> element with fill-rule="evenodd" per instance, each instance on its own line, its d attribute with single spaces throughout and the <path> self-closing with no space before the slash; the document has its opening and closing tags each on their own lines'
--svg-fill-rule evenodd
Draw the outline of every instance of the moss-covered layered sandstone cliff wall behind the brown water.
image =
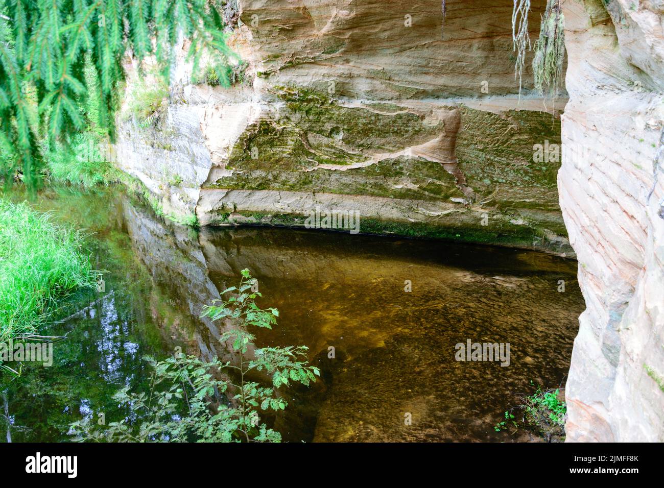
<svg viewBox="0 0 664 488">
<path fill-rule="evenodd" d="M 437 0 L 238 7 L 244 82 L 193 83 L 183 41 L 159 116 L 122 123 L 120 166 L 165 214 L 301 225 L 320 205 L 359 211 L 363 232 L 572 254 L 559 159 L 533 157 L 560 143 L 565 100 L 519 100 L 511 2 L 448 1 L 445 19 Z"/>
</svg>

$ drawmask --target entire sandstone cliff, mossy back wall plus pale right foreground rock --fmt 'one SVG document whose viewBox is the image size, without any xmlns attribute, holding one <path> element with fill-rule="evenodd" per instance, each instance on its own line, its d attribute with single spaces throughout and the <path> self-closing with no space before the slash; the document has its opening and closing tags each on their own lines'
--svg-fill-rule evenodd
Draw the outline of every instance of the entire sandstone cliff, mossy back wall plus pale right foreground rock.
<svg viewBox="0 0 664 488">
<path fill-rule="evenodd" d="M 120 165 L 204 225 L 321 206 L 366 232 L 571 254 L 566 226 L 587 304 L 568 440 L 662 441 L 664 4 L 563 1 L 566 106 L 529 95 L 529 73 L 519 100 L 511 1 L 446 4 L 240 0 L 244 81 L 195 82 L 183 41 L 157 123 L 122 122 Z M 562 167 L 535 161 L 562 108 Z"/>
</svg>

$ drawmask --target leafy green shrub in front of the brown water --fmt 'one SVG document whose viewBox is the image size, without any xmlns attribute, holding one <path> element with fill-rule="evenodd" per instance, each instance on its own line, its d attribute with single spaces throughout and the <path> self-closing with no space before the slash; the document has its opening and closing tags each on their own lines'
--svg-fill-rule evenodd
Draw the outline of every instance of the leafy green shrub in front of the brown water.
<svg viewBox="0 0 664 488">
<path fill-rule="evenodd" d="M 271 329 L 279 312 L 256 305 L 255 280 L 242 270 L 240 284 L 222 295 L 227 300 L 210 305 L 203 313 L 228 325 L 220 337 L 237 356 L 234 363 L 219 359 L 201 361 L 177 355 L 165 361 L 146 358 L 153 369 L 149 393 L 123 388 L 114 399 L 131 415 L 101 430 L 90 419 L 74 422 L 70 434 L 78 441 L 97 442 L 280 442 L 281 434 L 260 422 L 260 412 L 284 410 L 278 395 L 291 382 L 309 385 L 319 376 L 307 365 L 307 347 L 254 348 L 250 327 Z M 253 351 L 253 352 L 251 352 Z M 256 375 L 254 372 L 258 372 Z M 249 375 L 268 374 L 272 384 Z"/>
</svg>

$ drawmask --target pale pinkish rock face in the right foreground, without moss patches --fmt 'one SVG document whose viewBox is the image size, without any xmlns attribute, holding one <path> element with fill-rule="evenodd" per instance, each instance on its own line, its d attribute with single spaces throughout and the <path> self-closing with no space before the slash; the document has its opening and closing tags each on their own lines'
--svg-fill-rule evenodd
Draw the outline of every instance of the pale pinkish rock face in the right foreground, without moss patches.
<svg viewBox="0 0 664 488">
<path fill-rule="evenodd" d="M 560 205 L 587 309 L 569 441 L 664 441 L 664 4 L 566 1 Z"/>
</svg>

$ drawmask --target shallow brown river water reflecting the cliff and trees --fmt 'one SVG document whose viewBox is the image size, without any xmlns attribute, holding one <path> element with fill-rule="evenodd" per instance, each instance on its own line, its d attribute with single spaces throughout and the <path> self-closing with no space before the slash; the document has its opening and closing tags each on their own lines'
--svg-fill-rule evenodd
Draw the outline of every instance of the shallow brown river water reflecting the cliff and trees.
<svg viewBox="0 0 664 488">
<path fill-rule="evenodd" d="M 533 392 L 531 382 L 564 382 L 584 308 L 576 262 L 538 252 L 288 228 L 191 230 L 118 188 L 48 189 L 35 205 L 90 234 L 105 291 L 70 297 L 48 330 L 66 335 L 54 364 L 28 365 L 9 384 L 13 441 L 68 440 L 82 416 L 120 420 L 127 412 L 112 394 L 147 390 L 143 355 L 181 347 L 227 357 L 219 326 L 199 317 L 244 268 L 258 278 L 259 305 L 280 310 L 258 346 L 306 345 L 321 368 L 314 385 L 286 392 L 286 411 L 266 418 L 291 442 L 529 440 L 493 425 Z M 509 343 L 509 366 L 457 361 L 456 345 L 468 340 Z"/>
</svg>

